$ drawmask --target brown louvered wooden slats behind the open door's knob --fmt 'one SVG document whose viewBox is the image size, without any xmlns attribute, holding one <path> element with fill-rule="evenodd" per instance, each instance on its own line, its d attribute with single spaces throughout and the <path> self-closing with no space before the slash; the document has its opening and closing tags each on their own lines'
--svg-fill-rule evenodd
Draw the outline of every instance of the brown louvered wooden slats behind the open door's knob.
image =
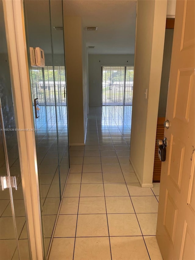
<svg viewBox="0 0 195 260">
<path fill-rule="evenodd" d="M 164 121 L 165 117 L 158 117 L 157 128 L 156 128 L 156 140 L 164 139 Z M 155 145 L 154 153 L 154 170 L 153 170 L 153 181 L 160 181 L 161 178 L 161 161 L 158 158 L 158 145 Z"/>
</svg>

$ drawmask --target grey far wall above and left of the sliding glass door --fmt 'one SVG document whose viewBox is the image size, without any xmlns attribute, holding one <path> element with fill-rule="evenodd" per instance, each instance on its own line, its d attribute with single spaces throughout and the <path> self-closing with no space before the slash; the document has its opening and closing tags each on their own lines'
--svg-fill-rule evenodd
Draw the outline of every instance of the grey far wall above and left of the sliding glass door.
<svg viewBox="0 0 195 260">
<path fill-rule="evenodd" d="M 101 106 L 101 66 L 133 66 L 134 55 L 90 54 L 89 60 L 89 106 Z"/>
</svg>

